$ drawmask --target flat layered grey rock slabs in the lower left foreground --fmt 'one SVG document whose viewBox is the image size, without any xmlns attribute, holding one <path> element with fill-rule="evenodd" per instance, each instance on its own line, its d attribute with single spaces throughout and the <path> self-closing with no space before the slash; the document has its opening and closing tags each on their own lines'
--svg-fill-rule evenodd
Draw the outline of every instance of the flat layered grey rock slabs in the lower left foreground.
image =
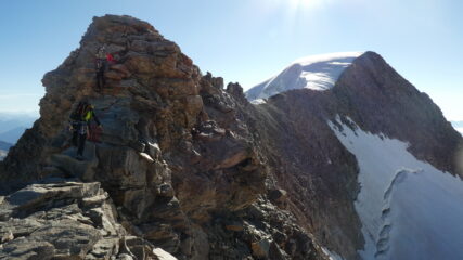
<svg viewBox="0 0 463 260">
<path fill-rule="evenodd" d="M 1 259 L 157 259 L 117 223 L 100 183 L 33 184 L 0 197 Z"/>
</svg>

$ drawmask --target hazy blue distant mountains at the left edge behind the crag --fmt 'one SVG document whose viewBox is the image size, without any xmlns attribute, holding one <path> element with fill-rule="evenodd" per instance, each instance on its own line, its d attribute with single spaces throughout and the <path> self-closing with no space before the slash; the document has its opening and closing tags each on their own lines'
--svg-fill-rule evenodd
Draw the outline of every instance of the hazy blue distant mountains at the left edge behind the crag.
<svg viewBox="0 0 463 260">
<path fill-rule="evenodd" d="M 0 112 L 0 141 L 15 144 L 37 118 L 37 113 Z"/>
</svg>

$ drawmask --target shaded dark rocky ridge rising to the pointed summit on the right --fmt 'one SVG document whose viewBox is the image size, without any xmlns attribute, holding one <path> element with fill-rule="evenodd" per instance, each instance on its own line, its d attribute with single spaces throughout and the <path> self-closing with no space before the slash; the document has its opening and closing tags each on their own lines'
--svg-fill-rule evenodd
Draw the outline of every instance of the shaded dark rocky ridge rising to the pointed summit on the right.
<svg viewBox="0 0 463 260">
<path fill-rule="evenodd" d="M 345 259 L 358 259 L 364 244 L 353 207 L 359 169 L 327 121 L 339 116 L 351 126 L 351 118 L 363 131 L 408 142 L 416 158 L 463 176 L 455 164 L 461 135 L 425 93 L 373 52 L 358 57 L 332 90 L 291 90 L 243 114 L 266 155 L 268 179 L 287 191 L 297 223 Z"/>
</svg>

